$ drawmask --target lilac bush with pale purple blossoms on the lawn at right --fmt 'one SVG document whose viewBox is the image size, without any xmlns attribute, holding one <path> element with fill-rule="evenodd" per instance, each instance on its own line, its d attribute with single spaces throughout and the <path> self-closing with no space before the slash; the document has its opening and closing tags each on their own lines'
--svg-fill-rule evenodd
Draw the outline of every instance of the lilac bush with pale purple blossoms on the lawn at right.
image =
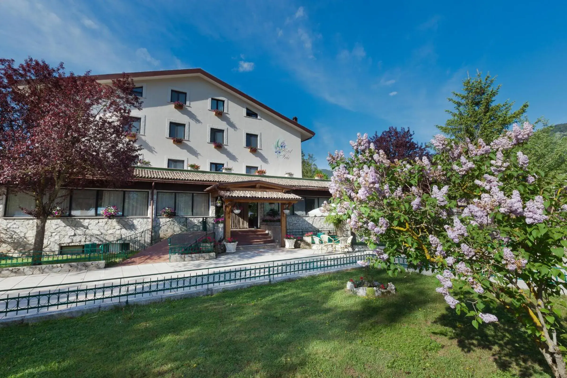
<svg viewBox="0 0 567 378">
<path fill-rule="evenodd" d="M 497 322 L 490 309 L 502 305 L 555 376 L 567 377 L 567 181 L 530 169 L 521 148 L 532 133 L 527 122 L 514 125 L 490 145 L 435 135 L 436 154 L 415 161 L 390 161 L 358 134 L 350 157 L 329 154 L 325 211 L 375 249 L 371 267 L 395 275 L 403 269 L 395 258 L 404 256 L 413 269 L 438 271 L 437 292 L 475 328 Z"/>
</svg>

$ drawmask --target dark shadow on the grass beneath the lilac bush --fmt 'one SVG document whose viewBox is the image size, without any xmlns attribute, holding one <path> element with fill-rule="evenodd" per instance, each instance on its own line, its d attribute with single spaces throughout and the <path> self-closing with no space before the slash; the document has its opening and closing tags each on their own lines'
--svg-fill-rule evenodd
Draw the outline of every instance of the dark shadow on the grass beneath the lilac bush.
<svg viewBox="0 0 567 378">
<path fill-rule="evenodd" d="M 456 315 L 455 311 L 447 307 L 447 311 L 439 316 L 435 323 L 451 328 L 453 333 L 442 334 L 454 339 L 464 352 L 484 349 L 493 352 L 493 360 L 502 371 L 510 371 L 514 366 L 521 377 L 531 377 L 539 371 L 547 372 L 552 376 L 545 359 L 535 346 L 534 341 L 522 332 L 517 320 L 502 307 L 487 310 L 498 317 L 497 323 L 481 324 L 475 329 L 472 318 Z M 435 333 L 435 332 L 434 332 Z"/>
</svg>

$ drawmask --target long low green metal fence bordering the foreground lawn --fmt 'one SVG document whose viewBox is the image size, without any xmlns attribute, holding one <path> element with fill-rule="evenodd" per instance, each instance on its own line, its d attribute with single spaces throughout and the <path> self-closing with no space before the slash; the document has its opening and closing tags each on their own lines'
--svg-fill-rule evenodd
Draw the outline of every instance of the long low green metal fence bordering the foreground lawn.
<svg viewBox="0 0 567 378">
<path fill-rule="evenodd" d="M 221 266 L 210 269 L 191 269 L 162 273 L 162 278 L 150 275 L 124 277 L 120 282 L 108 280 L 84 281 L 65 284 L 66 288 L 53 289 L 53 286 L 24 287 L 4 291 L 16 294 L 0 298 L 2 317 L 17 316 L 24 313 L 37 313 L 49 309 L 79 307 L 108 302 L 126 302 L 137 298 L 155 295 L 180 293 L 227 284 L 273 279 L 356 267 L 357 261 L 375 256 L 370 251 L 350 254 L 333 254 L 304 260 L 277 260 L 253 266 Z M 405 259 L 398 262 L 407 266 Z M 171 274 L 166 278 L 166 275 Z M 154 275 L 155 277 L 155 275 Z"/>
</svg>

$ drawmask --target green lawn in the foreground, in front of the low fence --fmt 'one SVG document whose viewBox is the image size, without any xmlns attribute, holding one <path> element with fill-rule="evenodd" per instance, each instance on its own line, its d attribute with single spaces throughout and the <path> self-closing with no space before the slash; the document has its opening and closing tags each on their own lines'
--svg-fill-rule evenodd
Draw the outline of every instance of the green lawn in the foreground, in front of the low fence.
<svg viewBox="0 0 567 378">
<path fill-rule="evenodd" d="M 435 278 L 370 300 L 344 291 L 359 275 L 388 281 L 357 269 L 0 328 L 0 377 L 549 377 L 513 327 L 454 315 Z"/>
</svg>

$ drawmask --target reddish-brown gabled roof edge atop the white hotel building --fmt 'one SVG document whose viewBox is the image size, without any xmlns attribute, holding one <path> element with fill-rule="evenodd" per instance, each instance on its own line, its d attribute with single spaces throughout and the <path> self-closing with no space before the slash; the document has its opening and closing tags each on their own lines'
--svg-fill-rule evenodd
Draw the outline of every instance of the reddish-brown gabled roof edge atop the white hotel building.
<svg viewBox="0 0 567 378">
<path fill-rule="evenodd" d="M 126 74 L 133 79 L 143 79 L 143 78 L 159 79 L 159 78 L 168 78 L 168 77 L 175 77 L 175 76 L 178 76 L 178 77 L 201 76 L 203 78 L 210 80 L 211 82 L 218 84 L 221 87 L 224 87 L 226 90 L 229 90 L 230 92 L 234 93 L 235 95 L 240 96 L 243 99 L 250 101 L 251 103 L 259 106 L 260 108 L 263 108 L 265 111 L 268 111 L 269 113 L 272 113 L 274 116 L 281 118 L 281 120 L 287 122 L 288 124 L 291 124 L 291 125 L 295 126 L 296 128 L 304 131 L 305 133 L 308 134 L 308 137 L 302 138 L 302 141 L 307 141 L 308 139 L 311 139 L 315 135 L 314 131 L 307 129 L 305 126 L 299 124 L 297 121 L 294 121 L 294 120 L 290 119 L 289 117 L 284 116 L 284 114 L 281 114 L 280 112 L 274 111 L 274 109 L 268 107 L 268 105 L 261 103 L 260 101 L 256 100 L 255 98 L 253 98 L 251 96 L 248 96 L 244 92 L 236 89 L 235 87 L 231 86 L 228 83 L 223 82 L 221 79 L 215 77 L 214 75 L 209 74 L 207 71 L 200 69 L 200 68 L 190 68 L 190 69 L 181 69 L 181 70 L 129 72 L 129 73 L 126 73 Z M 123 75 L 124 75 L 124 73 L 121 73 L 121 74 L 105 74 L 105 75 L 96 75 L 96 77 L 101 82 L 107 82 L 107 81 L 110 82 L 110 80 L 112 80 L 112 79 L 122 78 Z"/>
</svg>

